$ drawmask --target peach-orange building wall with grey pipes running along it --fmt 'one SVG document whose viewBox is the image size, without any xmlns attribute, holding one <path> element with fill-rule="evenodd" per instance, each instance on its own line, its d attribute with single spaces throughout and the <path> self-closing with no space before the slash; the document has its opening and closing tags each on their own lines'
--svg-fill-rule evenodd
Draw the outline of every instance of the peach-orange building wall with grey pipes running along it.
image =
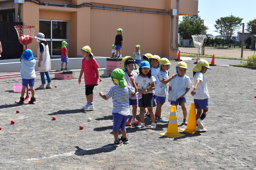
<svg viewBox="0 0 256 170">
<path fill-rule="evenodd" d="M 0 0 L 1 3 L 2 0 Z M 92 3 L 93 5 L 125 8 L 143 8 L 147 10 L 169 11 L 177 9 L 177 0 L 44 0 L 42 2 L 74 4 Z M 17 4 L 15 5 L 17 8 Z M 180 0 L 180 14 L 197 14 L 198 1 Z M 16 10 L 17 11 L 17 10 Z M 33 17 L 32 17 L 33 16 Z M 90 7 L 70 8 L 43 6 L 30 1 L 22 4 L 21 18 L 25 25 L 37 26 L 39 19 L 70 21 L 70 57 L 81 55 L 85 45 L 92 48 L 95 56 L 110 57 L 116 29 L 123 29 L 124 46 L 122 56 L 132 56 L 135 45 L 141 45 L 141 54 L 151 53 L 165 57 L 177 57 L 177 51 L 171 50 L 171 16 L 168 14 L 136 13 L 128 11 L 102 10 Z M 176 16 L 174 16 L 174 48 L 176 39 Z M 36 52 L 38 43 L 33 41 L 28 47 Z"/>
</svg>

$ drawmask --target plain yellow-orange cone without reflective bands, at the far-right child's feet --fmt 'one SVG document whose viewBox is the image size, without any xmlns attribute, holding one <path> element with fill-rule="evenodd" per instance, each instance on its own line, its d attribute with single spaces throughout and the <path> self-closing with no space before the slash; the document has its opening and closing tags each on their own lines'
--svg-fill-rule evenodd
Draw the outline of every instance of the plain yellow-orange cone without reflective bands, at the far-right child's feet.
<svg viewBox="0 0 256 170">
<path fill-rule="evenodd" d="M 188 115 L 188 125 L 186 129 L 180 129 L 187 133 L 199 133 L 196 131 L 196 107 L 195 103 L 191 103 Z"/>
</svg>

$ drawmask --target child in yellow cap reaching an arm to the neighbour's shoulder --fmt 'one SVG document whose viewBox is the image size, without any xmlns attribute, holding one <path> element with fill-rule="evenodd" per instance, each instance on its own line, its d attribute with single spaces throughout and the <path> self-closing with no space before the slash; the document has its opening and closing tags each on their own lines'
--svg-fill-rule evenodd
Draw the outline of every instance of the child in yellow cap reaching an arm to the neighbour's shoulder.
<svg viewBox="0 0 256 170">
<path fill-rule="evenodd" d="M 167 120 L 164 119 L 163 116 L 161 116 L 162 106 L 165 103 L 165 99 L 168 96 L 168 82 L 171 81 L 176 74 L 170 76 L 168 78 L 168 72 L 167 70 L 170 68 L 170 61 L 167 58 L 161 58 L 160 59 L 160 71 L 157 75 L 157 85 L 155 87 L 155 102 L 157 103 L 157 109 L 155 110 L 155 119 L 157 122 L 160 123 L 166 123 Z"/>
</svg>

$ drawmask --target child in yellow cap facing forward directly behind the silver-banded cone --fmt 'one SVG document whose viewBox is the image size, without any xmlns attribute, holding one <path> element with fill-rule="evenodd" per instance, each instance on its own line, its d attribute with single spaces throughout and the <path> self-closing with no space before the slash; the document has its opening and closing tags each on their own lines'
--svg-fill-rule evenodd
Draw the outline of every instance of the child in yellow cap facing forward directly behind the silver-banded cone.
<svg viewBox="0 0 256 170">
<path fill-rule="evenodd" d="M 184 61 L 178 62 L 176 66 L 177 76 L 169 83 L 168 101 L 172 106 L 180 105 L 183 112 L 183 123 L 188 124 L 186 94 L 193 87 L 189 76 L 185 75 L 187 64 Z"/>
</svg>

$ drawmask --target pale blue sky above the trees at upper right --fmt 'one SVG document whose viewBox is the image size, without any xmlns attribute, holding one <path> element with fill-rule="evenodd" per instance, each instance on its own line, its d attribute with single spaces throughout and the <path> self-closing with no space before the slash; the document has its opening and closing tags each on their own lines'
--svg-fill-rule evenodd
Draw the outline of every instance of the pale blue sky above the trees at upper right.
<svg viewBox="0 0 256 170">
<path fill-rule="evenodd" d="M 216 30 L 213 26 L 216 24 L 215 21 L 220 17 L 231 16 L 231 14 L 244 18 L 242 23 L 244 23 L 244 28 L 247 28 L 247 23 L 256 19 L 256 0 L 198 0 L 198 11 L 204 24 L 209 27 L 207 34 L 219 35 L 214 31 Z"/>
</svg>

